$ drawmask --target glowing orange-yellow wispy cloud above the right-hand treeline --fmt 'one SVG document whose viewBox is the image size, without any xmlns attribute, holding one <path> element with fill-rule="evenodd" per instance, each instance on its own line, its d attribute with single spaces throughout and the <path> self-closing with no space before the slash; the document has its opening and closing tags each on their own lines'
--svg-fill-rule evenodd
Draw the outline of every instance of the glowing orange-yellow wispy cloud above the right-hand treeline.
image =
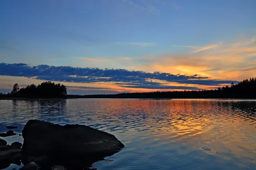
<svg viewBox="0 0 256 170">
<path fill-rule="evenodd" d="M 170 71 L 172 73 L 198 74 L 212 79 L 241 80 L 255 77 L 256 37 L 233 43 L 220 42 L 204 46 L 173 47 L 189 48 L 188 51 L 147 56 L 142 67 L 146 71 Z M 200 51 L 200 52 L 199 52 Z"/>
</svg>

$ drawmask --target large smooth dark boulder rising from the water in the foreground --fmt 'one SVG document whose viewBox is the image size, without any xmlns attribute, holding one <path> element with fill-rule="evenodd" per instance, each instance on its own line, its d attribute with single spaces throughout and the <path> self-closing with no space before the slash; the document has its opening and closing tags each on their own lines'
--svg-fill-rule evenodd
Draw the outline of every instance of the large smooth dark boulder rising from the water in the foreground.
<svg viewBox="0 0 256 170">
<path fill-rule="evenodd" d="M 29 120 L 22 136 L 22 150 L 28 155 L 104 158 L 124 147 L 115 136 L 85 125 L 61 126 L 40 120 Z"/>
</svg>

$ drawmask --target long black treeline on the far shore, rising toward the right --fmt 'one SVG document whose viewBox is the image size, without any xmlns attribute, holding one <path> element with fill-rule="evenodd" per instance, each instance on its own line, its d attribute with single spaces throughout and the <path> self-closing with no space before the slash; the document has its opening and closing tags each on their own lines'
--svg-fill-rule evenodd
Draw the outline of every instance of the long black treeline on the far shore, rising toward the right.
<svg viewBox="0 0 256 170">
<path fill-rule="evenodd" d="M 68 98 L 131 98 L 131 99 L 256 99 L 256 78 L 244 79 L 230 87 L 203 91 L 166 91 L 97 95 L 67 95 Z"/>
</svg>

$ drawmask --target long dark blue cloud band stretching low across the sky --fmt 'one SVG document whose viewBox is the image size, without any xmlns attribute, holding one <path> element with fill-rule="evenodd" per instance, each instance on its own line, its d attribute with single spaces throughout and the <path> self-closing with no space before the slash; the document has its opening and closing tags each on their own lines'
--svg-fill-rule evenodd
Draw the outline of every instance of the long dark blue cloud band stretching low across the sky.
<svg viewBox="0 0 256 170">
<path fill-rule="evenodd" d="M 148 73 L 144 71 L 128 71 L 125 69 L 77 68 L 69 66 L 49 65 L 30 66 L 24 63 L 7 64 L 4 62 L 0 63 L 0 75 L 36 77 L 36 79 L 60 82 L 113 82 L 116 83 L 116 85 L 126 85 L 126 87 L 129 87 L 127 85 L 130 85 L 130 87 L 133 88 L 148 89 L 177 89 L 176 86 L 162 86 L 158 82 L 151 82 L 151 79 L 197 85 L 219 85 L 224 83 L 237 82 L 209 80 L 209 77 L 198 77 L 196 74 L 193 76 L 188 76 L 161 72 Z M 136 87 L 134 87 L 134 85 Z M 197 90 L 198 88 L 179 86 L 179 89 Z"/>
</svg>

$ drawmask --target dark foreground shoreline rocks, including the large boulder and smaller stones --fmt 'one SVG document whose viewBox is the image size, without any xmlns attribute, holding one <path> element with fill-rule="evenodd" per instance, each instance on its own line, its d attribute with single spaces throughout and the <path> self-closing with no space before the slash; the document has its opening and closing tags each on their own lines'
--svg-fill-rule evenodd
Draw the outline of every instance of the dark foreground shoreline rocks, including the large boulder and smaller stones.
<svg viewBox="0 0 256 170">
<path fill-rule="evenodd" d="M 82 170 L 124 147 L 115 136 L 85 125 L 61 126 L 40 120 L 29 120 L 22 137 L 23 144 L 8 145 L 0 139 L 0 170 L 21 163 L 20 170 Z"/>
</svg>

